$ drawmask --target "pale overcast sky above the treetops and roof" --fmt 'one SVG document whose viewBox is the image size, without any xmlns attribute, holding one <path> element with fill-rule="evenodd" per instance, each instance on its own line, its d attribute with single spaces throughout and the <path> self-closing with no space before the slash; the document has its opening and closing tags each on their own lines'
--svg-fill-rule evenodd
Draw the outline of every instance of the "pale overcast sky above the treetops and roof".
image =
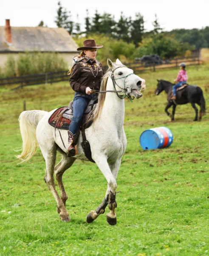
<svg viewBox="0 0 209 256">
<path fill-rule="evenodd" d="M 73 20 L 84 23 L 86 9 L 93 17 L 95 10 L 100 14 L 110 13 L 118 20 L 121 11 L 126 17 L 134 17 L 136 12 L 144 16 L 147 31 L 153 29 L 155 14 L 164 30 L 201 29 L 209 26 L 209 0 L 60 0 L 62 6 L 71 11 Z M 54 23 L 58 0 L 0 0 L 0 26 L 5 19 L 10 19 L 11 26 L 37 26 L 41 20 L 48 27 L 56 27 Z"/>
</svg>

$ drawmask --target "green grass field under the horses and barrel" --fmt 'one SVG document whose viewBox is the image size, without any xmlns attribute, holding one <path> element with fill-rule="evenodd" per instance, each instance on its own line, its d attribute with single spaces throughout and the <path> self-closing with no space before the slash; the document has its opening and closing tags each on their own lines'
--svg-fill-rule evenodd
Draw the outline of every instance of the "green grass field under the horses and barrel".
<svg viewBox="0 0 209 256">
<path fill-rule="evenodd" d="M 13 150 L 22 145 L 18 117 L 23 100 L 27 110 L 51 111 L 68 105 L 73 99 L 68 82 L 16 91 L 0 88 L 1 256 L 209 255 L 209 114 L 193 122 L 195 112 L 187 104 L 177 106 L 175 121 L 169 122 L 165 93 L 154 94 L 156 79 L 173 81 L 177 73 L 138 74 L 146 79 L 147 90 L 133 103 L 126 100 L 128 145 L 117 178 L 116 226 L 107 224 L 105 214 L 92 224 L 85 222 L 107 187 L 95 164 L 76 160 L 63 176 L 69 223 L 59 220 L 54 197 L 43 181 L 45 162 L 40 149 L 31 160 L 17 165 Z M 207 110 L 209 66 L 188 67 L 187 73 L 189 83 L 203 89 Z M 144 151 L 140 134 L 159 126 L 172 131 L 173 143 L 169 148 Z"/>
</svg>

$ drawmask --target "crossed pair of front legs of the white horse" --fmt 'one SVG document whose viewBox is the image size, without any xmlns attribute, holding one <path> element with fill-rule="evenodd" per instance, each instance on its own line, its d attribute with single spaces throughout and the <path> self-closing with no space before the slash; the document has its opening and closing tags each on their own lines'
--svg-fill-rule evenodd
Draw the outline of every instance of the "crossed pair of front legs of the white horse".
<svg viewBox="0 0 209 256">
<path fill-rule="evenodd" d="M 97 163 L 97 166 L 104 174 L 104 177 L 107 179 L 107 192 L 105 195 L 105 198 L 101 202 L 101 204 L 96 208 L 96 211 L 90 211 L 87 215 L 87 222 L 91 223 L 93 222 L 100 214 L 104 213 L 105 208 L 108 205 L 108 208 L 110 209 L 110 212 L 107 213 L 107 222 L 110 225 L 116 224 L 116 213 L 115 208 L 117 206 L 116 204 L 116 177 L 119 171 L 121 159 L 118 160 L 116 163 L 109 164 L 107 163 L 107 159 L 98 159 L 95 160 Z"/>
</svg>

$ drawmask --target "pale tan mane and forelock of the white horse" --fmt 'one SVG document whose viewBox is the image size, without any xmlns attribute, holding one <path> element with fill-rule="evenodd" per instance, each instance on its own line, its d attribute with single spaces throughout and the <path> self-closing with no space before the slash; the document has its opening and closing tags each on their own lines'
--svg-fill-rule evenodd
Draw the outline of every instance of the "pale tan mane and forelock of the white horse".
<svg viewBox="0 0 209 256">
<path fill-rule="evenodd" d="M 114 64 L 114 69 L 117 67 L 126 67 L 125 65 L 117 65 L 116 63 L 113 63 L 113 64 Z M 108 80 L 108 77 L 111 72 L 112 72 L 112 69 L 109 68 L 107 70 L 107 72 L 104 74 L 104 76 L 102 76 L 100 91 L 106 90 L 107 80 Z M 99 93 L 98 104 L 93 111 L 93 119 L 94 120 L 96 120 L 100 116 L 100 113 L 101 113 L 103 105 L 104 105 L 105 98 L 106 98 L 106 93 Z"/>
</svg>

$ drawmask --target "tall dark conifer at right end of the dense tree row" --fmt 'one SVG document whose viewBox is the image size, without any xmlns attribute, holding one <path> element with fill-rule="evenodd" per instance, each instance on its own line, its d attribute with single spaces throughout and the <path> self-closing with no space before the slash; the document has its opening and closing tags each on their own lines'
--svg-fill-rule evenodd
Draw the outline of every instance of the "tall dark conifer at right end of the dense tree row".
<svg viewBox="0 0 209 256">
<path fill-rule="evenodd" d="M 130 26 L 130 35 L 135 47 L 138 47 L 138 43 L 141 42 L 143 33 L 144 17 L 138 12 L 135 15 L 135 19 L 131 21 Z"/>
</svg>

